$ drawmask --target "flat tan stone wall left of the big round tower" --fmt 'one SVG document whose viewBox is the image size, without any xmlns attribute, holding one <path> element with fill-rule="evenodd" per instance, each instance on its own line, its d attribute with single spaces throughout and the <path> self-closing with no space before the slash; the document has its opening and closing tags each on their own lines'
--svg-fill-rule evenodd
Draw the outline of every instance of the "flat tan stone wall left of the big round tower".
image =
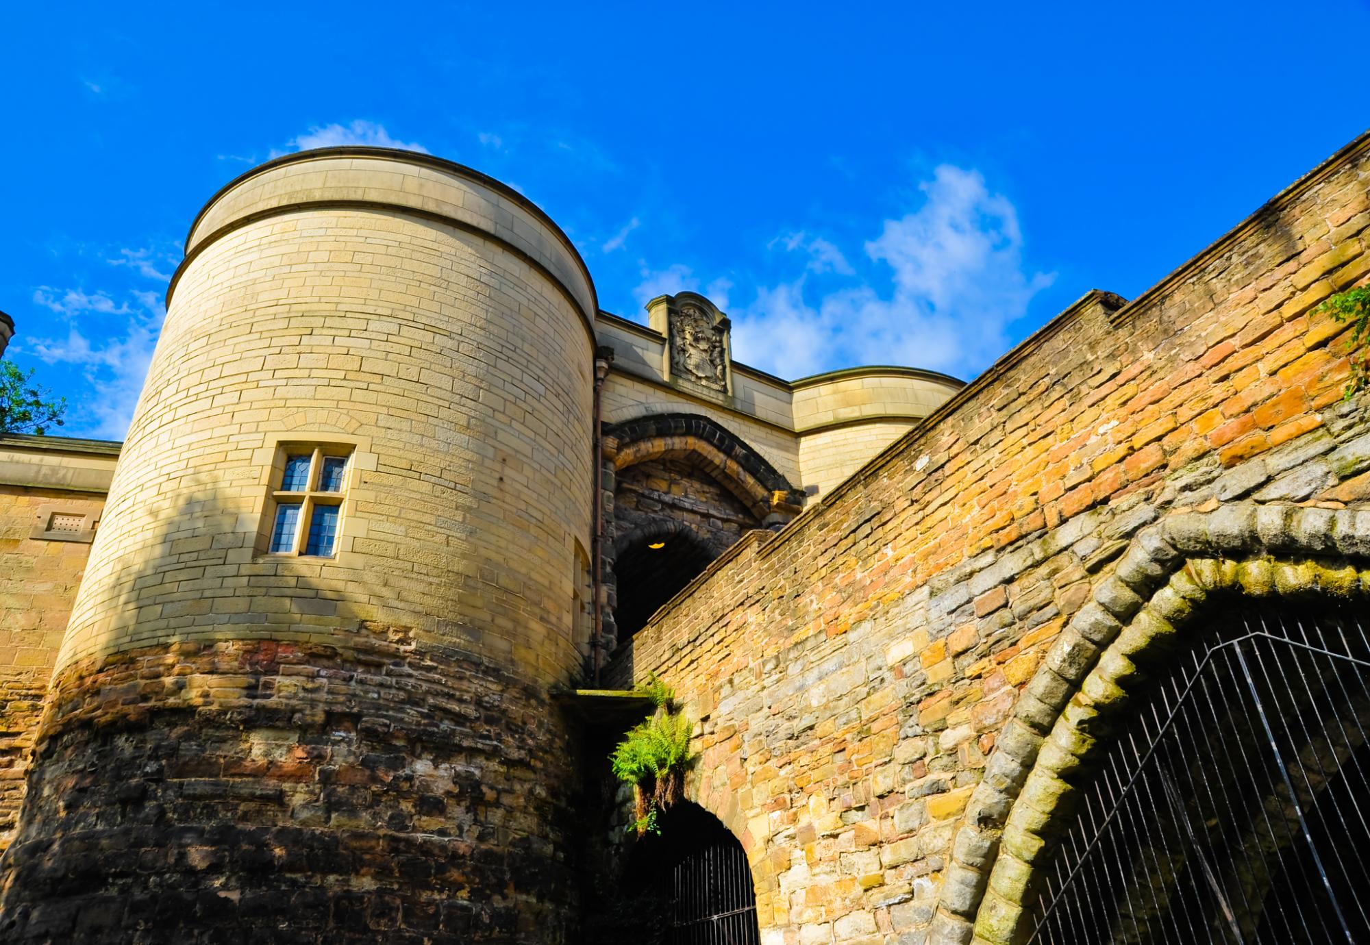
<svg viewBox="0 0 1370 945">
<path fill-rule="evenodd" d="M 42 694 L 90 545 L 30 537 L 40 507 L 97 512 L 103 497 L 0 486 L 0 852 L 14 838 Z"/>
</svg>

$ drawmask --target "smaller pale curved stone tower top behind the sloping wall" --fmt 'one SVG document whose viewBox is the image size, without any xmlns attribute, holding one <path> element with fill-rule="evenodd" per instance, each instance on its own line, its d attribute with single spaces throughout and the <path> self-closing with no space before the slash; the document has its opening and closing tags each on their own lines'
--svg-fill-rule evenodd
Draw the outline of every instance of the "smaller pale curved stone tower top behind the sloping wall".
<svg viewBox="0 0 1370 945">
<path fill-rule="evenodd" d="M 829 492 L 964 383 L 911 367 L 854 367 L 792 382 L 804 485 Z"/>
</svg>

